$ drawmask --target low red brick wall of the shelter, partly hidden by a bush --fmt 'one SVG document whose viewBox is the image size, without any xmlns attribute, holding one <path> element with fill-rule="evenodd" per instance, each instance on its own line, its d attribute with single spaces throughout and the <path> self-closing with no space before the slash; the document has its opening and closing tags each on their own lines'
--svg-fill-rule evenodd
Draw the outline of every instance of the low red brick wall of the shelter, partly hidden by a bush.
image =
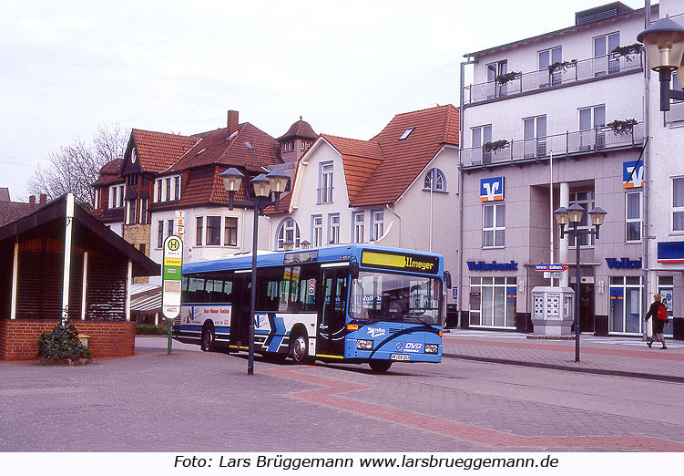
<svg viewBox="0 0 684 476">
<path fill-rule="evenodd" d="M 76 321 L 77 330 L 90 336 L 93 357 L 132 356 L 136 346 L 136 324 L 127 321 Z M 50 320 L 0 320 L 0 360 L 37 358 L 41 333 L 56 326 Z"/>
</svg>

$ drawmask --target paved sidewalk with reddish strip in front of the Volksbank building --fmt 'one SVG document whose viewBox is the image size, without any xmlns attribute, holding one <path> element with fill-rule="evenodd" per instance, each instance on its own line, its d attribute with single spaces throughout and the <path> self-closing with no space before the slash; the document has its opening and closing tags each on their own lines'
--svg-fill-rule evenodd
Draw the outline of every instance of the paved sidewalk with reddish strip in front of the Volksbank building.
<svg viewBox="0 0 684 476">
<path fill-rule="evenodd" d="M 449 329 L 443 343 L 444 357 L 684 383 L 684 342 L 671 338 L 666 338 L 668 350 L 660 350 L 659 343 L 648 348 L 634 337 L 583 335 L 579 340 L 579 362 L 575 362 L 575 340 Z"/>
</svg>

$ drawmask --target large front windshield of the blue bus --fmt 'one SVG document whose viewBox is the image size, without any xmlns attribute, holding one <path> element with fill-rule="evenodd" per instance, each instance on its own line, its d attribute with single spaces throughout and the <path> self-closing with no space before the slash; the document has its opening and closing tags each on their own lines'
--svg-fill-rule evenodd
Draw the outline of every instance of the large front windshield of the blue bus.
<svg viewBox="0 0 684 476">
<path fill-rule="evenodd" d="M 439 279 L 362 271 L 352 281 L 349 314 L 355 319 L 440 326 L 441 299 Z"/>
</svg>

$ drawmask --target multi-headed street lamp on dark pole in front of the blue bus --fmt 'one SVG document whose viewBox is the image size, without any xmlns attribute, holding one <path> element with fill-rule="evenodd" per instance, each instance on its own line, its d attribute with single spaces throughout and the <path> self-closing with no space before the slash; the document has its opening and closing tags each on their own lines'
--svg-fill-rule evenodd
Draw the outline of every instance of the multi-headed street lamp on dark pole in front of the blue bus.
<svg viewBox="0 0 684 476">
<path fill-rule="evenodd" d="M 233 209 L 233 200 L 235 192 L 240 190 L 240 183 L 245 176 L 234 167 L 221 173 L 223 179 L 223 186 L 228 191 L 229 196 L 229 210 Z M 282 171 L 271 171 L 268 175 L 260 173 L 251 180 L 254 189 L 254 197 L 249 200 L 254 207 L 254 223 L 252 227 L 252 244 L 251 244 L 251 295 L 250 295 L 250 341 L 249 357 L 247 359 L 247 375 L 254 374 L 254 310 L 257 301 L 257 238 L 259 236 L 259 215 L 263 209 L 269 206 L 274 206 L 275 211 L 278 212 L 278 202 L 281 198 L 281 193 L 290 181 L 290 177 Z M 245 187 L 246 189 L 246 187 Z M 269 200 L 269 196 L 273 193 L 273 200 Z"/>
</svg>

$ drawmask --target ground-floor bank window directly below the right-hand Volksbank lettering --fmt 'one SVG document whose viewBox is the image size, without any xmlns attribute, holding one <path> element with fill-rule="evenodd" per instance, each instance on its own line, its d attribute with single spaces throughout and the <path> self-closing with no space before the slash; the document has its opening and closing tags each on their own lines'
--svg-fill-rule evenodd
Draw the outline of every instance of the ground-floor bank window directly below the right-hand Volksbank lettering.
<svg viewBox="0 0 684 476">
<path fill-rule="evenodd" d="M 641 334 L 641 276 L 610 277 L 610 332 Z"/>
</svg>

